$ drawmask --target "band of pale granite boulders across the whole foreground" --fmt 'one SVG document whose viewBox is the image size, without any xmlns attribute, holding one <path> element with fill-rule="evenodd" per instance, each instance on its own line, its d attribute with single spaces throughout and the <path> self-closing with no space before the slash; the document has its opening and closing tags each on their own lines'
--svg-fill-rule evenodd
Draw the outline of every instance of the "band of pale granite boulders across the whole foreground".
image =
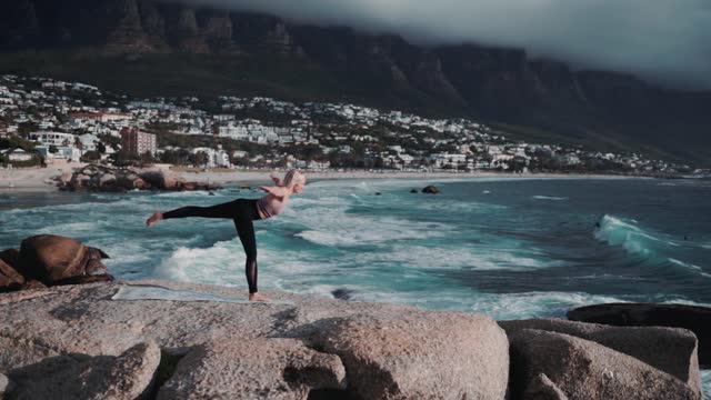
<svg viewBox="0 0 711 400">
<path fill-rule="evenodd" d="M 276 291 L 266 294 L 293 306 L 112 300 L 124 286 L 244 294 L 233 288 L 154 280 L 0 294 L 0 382 L 10 388 L 6 396 L 702 397 L 698 339 L 680 328 L 559 319 L 497 322 L 477 313 Z"/>
</svg>

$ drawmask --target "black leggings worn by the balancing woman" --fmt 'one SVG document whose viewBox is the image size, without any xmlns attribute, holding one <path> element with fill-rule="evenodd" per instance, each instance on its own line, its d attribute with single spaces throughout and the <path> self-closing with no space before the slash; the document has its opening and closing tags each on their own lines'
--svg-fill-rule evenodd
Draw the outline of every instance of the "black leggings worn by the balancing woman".
<svg viewBox="0 0 711 400">
<path fill-rule="evenodd" d="M 163 219 L 170 218 L 229 218 L 234 221 L 237 234 L 239 234 L 247 254 L 244 274 L 249 292 L 257 292 L 257 239 L 254 238 L 253 220 L 259 220 L 257 211 L 257 200 L 237 199 L 234 201 L 216 204 L 211 207 L 189 206 L 163 213 Z"/>
</svg>

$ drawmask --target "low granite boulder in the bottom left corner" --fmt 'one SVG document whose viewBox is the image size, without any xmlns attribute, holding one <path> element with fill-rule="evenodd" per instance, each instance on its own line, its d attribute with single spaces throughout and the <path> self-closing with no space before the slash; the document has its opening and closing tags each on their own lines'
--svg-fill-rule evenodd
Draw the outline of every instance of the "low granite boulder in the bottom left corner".
<svg viewBox="0 0 711 400">
<path fill-rule="evenodd" d="M 9 372 L 16 399 L 133 400 L 148 394 L 160 362 L 156 343 L 133 346 L 118 357 L 68 354 Z"/>
</svg>

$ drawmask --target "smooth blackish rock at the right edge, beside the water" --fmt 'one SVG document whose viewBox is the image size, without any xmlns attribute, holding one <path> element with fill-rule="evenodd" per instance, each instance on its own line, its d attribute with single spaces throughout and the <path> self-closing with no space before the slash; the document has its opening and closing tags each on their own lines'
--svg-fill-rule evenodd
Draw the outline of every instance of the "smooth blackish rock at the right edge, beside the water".
<svg viewBox="0 0 711 400">
<path fill-rule="evenodd" d="M 568 311 L 573 321 L 618 327 L 672 327 L 699 339 L 699 363 L 711 366 L 711 308 L 685 304 L 608 303 Z"/>
</svg>

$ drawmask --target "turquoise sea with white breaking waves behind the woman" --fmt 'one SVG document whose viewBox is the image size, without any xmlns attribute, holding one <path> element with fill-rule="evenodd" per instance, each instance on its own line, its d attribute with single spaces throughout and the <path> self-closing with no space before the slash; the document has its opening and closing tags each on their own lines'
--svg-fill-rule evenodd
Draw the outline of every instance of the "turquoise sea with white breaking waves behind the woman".
<svg viewBox="0 0 711 400">
<path fill-rule="evenodd" d="M 410 193 L 425 184 L 442 192 Z M 143 223 L 157 210 L 259 196 L 236 188 L 0 194 L 0 248 L 38 233 L 70 236 L 109 253 L 110 272 L 122 279 L 247 293 L 231 221 Z M 256 230 L 262 289 L 494 319 L 563 317 L 611 301 L 711 304 L 711 181 L 322 180 Z"/>
</svg>

